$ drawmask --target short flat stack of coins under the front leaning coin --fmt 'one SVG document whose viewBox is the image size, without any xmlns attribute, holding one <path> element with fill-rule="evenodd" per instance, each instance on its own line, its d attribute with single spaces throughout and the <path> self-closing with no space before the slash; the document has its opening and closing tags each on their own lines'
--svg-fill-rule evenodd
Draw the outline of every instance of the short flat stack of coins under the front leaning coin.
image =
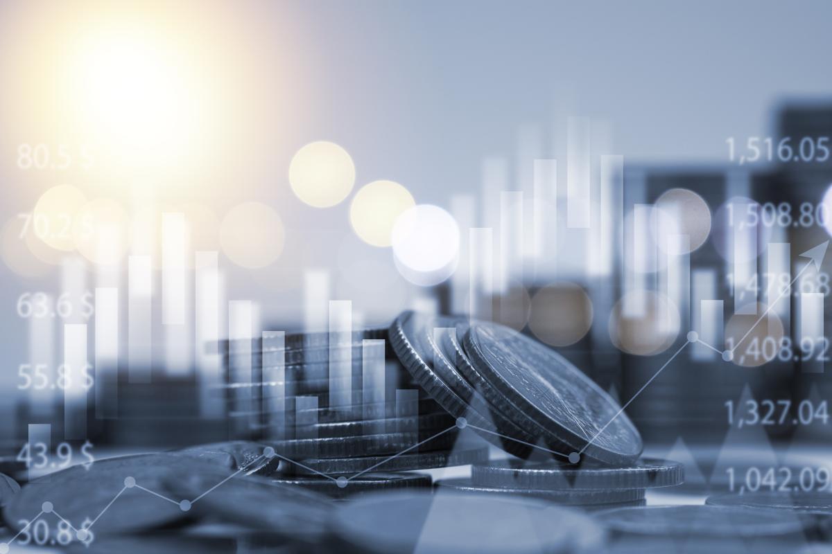
<svg viewBox="0 0 832 554">
<path fill-rule="evenodd" d="M 509 494 L 542 498 L 587 510 L 643 506 L 646 488 L 682 483 L 681 463 L 644 458 L 625 466 L 582 466 L 548 462 L 475 463 L 470 479 L 447 479 L 438 488 L 467 493 Z"/>
</svg>

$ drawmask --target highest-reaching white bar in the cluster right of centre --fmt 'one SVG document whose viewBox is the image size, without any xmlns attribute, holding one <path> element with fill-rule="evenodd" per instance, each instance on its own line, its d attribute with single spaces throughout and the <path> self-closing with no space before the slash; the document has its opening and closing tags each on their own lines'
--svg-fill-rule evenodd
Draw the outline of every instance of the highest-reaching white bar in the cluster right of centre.
<svg viewBox="0 0 832 554">
<path fill-rule="evenodd" d="M 591 148 L 589 118 L 567 118 L 567 228 L 590 226 Z"/>
</svg>

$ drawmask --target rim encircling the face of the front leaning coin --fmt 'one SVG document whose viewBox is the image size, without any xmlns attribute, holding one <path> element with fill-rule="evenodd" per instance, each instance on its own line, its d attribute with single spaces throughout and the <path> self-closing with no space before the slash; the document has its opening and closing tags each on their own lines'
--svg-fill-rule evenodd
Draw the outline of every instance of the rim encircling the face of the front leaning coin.
<svg viewBox="0 0 832 554">
<path fill-rule="evenodd" d="M 499 328 L 502 326 L 498 326 L 497 324 L 488 324 L 488 326 L 493 326 L 495 328 Z M 639 454 L 641 454 L 641 450 L 644 448 L 643 441 L 641 440 L 641 435 L 638 434 L 638 430 L 632 424 L 630 419 L 624 412 L 617 413 L 615 419 L 617 422 L 625 421 L 628 424 L 631 433 L 635 435 L 638 439 L 636 452 L 634 453 L 625 453 L 625 452 L 618 452 L 613 449 L 607 449 L 602 445 L 599 445 L 593 442 L 596 437 L 589 437 L 588 439 L 576 434 L 572 429 L 567 428 L 565 424 L 562 422 L 557 421 L 557 419 L 553 419 L 547 412 L 543 411 L 541 408 L 537 406 L 532 400 L 529 400 L 525 395 L 523 395 L 522 391 L 517 390 L 512 383 L 508 382 L 503 375 L 498 370 L 495 370 L 488 360 L 487 356 L 483 353 L 482 346 L 479 344 L 478 339 L 478 330 L 485 329 L 486 324 L 482 322 L 478 322 L 470 326 L 468 331 L 465 333 L 465 337 L 463 339 L 463 347 L 465 352 L 468 354 L 468 358 L 471 360 L 472 364 L 474 365 L 475 369 L 479 370 L 483 377 L 488 380 L 488 382 L 493 385 L 493 387 L 499 390 L 503 395 L 505 395 L 506 399 L 508 400 L 509 404 L 513 404 L 515 409 L 518 409 L 520 413 L 526 414 L 529 418 L 533 419 L 537 422 L 540 428 L 544 429 L 547 433 L 546 436 L 555 439 L 557 442 L 562 444 L 568 444 L 575 452 L 583 451 L 583 455 L 588 456 L 590 458 L 595 458 L 603 463 L 622 463 L 622 462 L 631 462 L 638 458 Z M 612 400 L 610 395 L 601 389 L 592 379 L 590 379 L 587 375 L 585 375 L 581 370 L 577 369 L 572 362 L 564 358 L 562 355 L 558 354 L 556 351 L 553 351 L 551 348 L 547 346 L 543 346 L 541 343 L 534 341 L 533 339 L 524 336 L 520 333 L 517 333 L 517 336 L 524 337 L 527 341 L 530 341 L 530 344 L 537 345 L 537 347 L 541 349 L 546 349 L 547 354 L 550 354 L 557 358 L 559 362 L 562 363 L 562 366 L 567 368 L 570 371 L 570 374 L 574 374 L 576 380 L 582 380 L 582 382 L 587 385 L 587 387 L 592 390 L 593 392 L 600 395 L 603 400 L 607 401 L 611 404 L 612 408 L 617 408 L 617 402 Z M 616 421 L 612 421 L 613 424 Z M 607 424 L 607 422 L 604 422 Z M 555 429 L 552 429 L 555 428 Z M 605 429 L 606 430 L 606 429 Z"/>
</svg>

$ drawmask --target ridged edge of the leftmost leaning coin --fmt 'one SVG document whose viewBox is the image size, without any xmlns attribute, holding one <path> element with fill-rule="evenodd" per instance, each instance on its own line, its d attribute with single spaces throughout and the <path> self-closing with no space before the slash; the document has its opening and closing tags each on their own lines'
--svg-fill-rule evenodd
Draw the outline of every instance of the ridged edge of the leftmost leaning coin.
<svg viewBox="0 0 832 554">
<path fill-rule="evenodd" d="M 448 410 L 448 413 L 453 415 L 455 418 L 464 417 L 466 419 L 470 419 L 469 423 L 478 427 L 483 427 L 483 429 L 491 430 L 493 433 L 508 434 L 509 436 L 522 438 L 522 440 L 526 440 L 527 442 L 533 442 L 534 437 L 524 433 L 522 429 L 519 429 L 515 424 L 503 417 L 503 414 L 500 414 L 497 410 L 493 409 L 493 407 L 488 406 L 482 396 L 473 395 L 472 398 L 476 399 L 473 400 L 473 402 L 477 404 L 473 405 L 468 400 L 459 396 L 457 392 L 453 390 L 453 387 L 448 385 L 448 382 L 443 379 L 442 375 L 438 374 L 436 370 L 428 365 L 427 361 L 425 361 L 422 355 L 414 348 L 413 341 L 411 341 L 409 336 L 407 336 L 404 332 L 404 321 L 409 320 L 410 317 L 415 315 L 414 311 L 405 311 L 400 314 L 390 326 L 389 336 L 390 344 L 393 346 L 396 355 L 399 356 L 399 360 L 402 361 L 402 365 L 404 365 L 404 368 L 409 371 L 410 375 L 413 376 L 418 385 L 421 386 L 428 393 L 428 395 L 433 398 L 433 400 L 436 400 L 439 405 Z M 437 349 L 437 353 L 439 355 L 444 356 L 441 351 L 438 351 L 438 346 L 433 344 L 432 337 L 428 336 L 428 341 L 430 341 L 430 344 L 434 349 Z M 446 369 L 451 370 L 452 368 L 448 367 Z M 455 370 L 455 368 L 453 369 Z M 459 378 L 463 379 L 462 375 L 459 375 Z M 476 393 L 476 390 L 474 390 L 474 392 Z M 483 405 L 480 405 L 481 403 Z M 494 423 L 491 423 L 487 417 L 483 416 L 483 412 L 481 410 L 486 410 L 487 413 L 491 414 L 494 419 Z M 489 443 L 498 446 L 500 449 L 503 449 L 508 453 L 513 453 L 520 458 L 527 458 L 529 453 L 532 451 L 531 447 L 526 444 L 518 443 L 509 439 L 502 439 L 495 434 L 485 433 L 479 429 L 473 430 Z"/>
</svg>

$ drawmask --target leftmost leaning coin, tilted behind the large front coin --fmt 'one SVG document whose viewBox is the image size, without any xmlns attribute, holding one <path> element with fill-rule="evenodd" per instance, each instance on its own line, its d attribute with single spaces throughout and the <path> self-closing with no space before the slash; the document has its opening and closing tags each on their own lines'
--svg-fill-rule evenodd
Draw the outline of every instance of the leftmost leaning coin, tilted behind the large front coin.
<svg viewBox="0 0 832 554">
<path fill-rule="evenodd" d="M 508 453 L 526 458 L 531 447 L 499 434 L 533 443 L 535 438 L 506 419 L 474 390 L 449 361 L 433 338 L 433 329 L 453 328 L 460 318 L 430 317 L 405 311 L 390 326 L 390 344 L 414 380 L 449 414 L 463 417 L 483 439 Z M 492 421 L 493 419 L 493 422 Z"/>
</svg>

